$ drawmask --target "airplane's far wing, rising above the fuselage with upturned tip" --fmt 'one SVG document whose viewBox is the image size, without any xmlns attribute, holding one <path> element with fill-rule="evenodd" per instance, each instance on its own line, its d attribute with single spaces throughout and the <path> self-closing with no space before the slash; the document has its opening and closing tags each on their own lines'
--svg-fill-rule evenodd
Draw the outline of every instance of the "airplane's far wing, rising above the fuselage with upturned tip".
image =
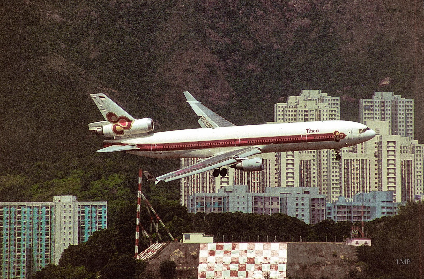
<svg viewBox="0 0 424 279">
<path fill-rule="evenodd" d="M 184 91 L 184 96 L 186 97 L 187 102 L 197 114 L 197 116 L 201 116 L 198 122 L 202 128 L 236 126 L 235 124 L 229 122 L 222 116 L 219 116 L 209 108 L 206 108 L 201 102 L 196 100 L 188 91 Z"/>
</svg>

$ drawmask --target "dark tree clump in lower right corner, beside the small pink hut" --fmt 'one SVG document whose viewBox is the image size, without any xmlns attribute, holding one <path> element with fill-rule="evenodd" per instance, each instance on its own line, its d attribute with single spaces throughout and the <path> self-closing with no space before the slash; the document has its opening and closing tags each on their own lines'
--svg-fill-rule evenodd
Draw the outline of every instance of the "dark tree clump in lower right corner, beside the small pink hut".
<svg viewBox="0 0 424 279">
<path fill-rule="evenodd" d="M 418 212 L 420 215 L 424 212 L 423 203 L 408 202 L 399 208 L 398 215 L 385 216 L 365 224 L 371 234 L 371 247 L 360 246 L 356 252 L 358 260 L 366 264 L 371 278 L 419 277 Z M 423 231 L 421 226 L 421 235 Z M 421 251 L 424 251 L 423 247 Z M 408 264 L 399 264 L 401 260 L 409 261 Z"/>
</svg>

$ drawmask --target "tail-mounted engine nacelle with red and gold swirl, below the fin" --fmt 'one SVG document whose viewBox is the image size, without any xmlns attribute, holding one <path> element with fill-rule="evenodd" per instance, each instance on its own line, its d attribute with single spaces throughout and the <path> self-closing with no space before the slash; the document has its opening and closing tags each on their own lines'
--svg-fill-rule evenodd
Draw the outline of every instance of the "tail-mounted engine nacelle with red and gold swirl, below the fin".
<svg viewBox="0 0 424 279">
<path fill-rule="evenodd" d="M 92 133 L 104 135 L 105 137 L 119 137 L 153 132 L 154 128 L 153 119 L 151 118 L 136 119 L 134 121 L 120 119 L 119 122 L 99 127 Z"/>
</svg>

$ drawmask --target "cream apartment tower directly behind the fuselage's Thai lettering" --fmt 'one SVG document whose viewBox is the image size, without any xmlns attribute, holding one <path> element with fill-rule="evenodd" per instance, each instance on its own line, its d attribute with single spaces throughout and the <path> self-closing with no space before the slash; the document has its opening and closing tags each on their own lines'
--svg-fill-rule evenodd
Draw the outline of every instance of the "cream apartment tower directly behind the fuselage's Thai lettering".
<svg viewBox="0 0 424 279">
<path fill-rule="evenodd" d="M 274 105 L 275 122 L 340 120 L 340 97 L 321 90 L 302 90 L 287 103 Z M 342 149 L 343 151 L 343 149 Z M 340 195 L 340 162 L 334 150 L 308 150 L 277 153 L 278 187 L 318 187 L 328 201 Z"/>
</svg>

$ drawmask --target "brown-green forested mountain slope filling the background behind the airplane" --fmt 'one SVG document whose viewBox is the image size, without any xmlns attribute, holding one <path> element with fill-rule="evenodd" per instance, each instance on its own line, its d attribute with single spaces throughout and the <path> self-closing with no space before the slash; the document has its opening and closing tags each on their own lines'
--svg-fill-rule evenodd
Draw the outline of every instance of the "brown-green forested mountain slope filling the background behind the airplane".
<svg viewBox="0 0 424 279">
<path fill-rule="evenodd" d="M 87 123 L 102 119 L 88 94 L 98 91 L 136 118 L 153 118 L 158 131 L 198 127 L 184 90 L 236 124 L 272 121 L 273 103 L 302 88 L 343 96 L 342 119 L 350 120 L 357 120 L 358 99 L 373 91 L 415 97 L 423 85 L 415 54 L 420 65 L 424 52 L 416 2 L 3 3 L 0 199 L 132 201 L 137 168 L 161 174 L 178 167 L 176 160 L 95 154 L 102 138 Z M 390 84 L 380 87 L 385 77 Z M 416 105 L 420 140 L 421 116 Z M 179 198 L 178 182 L 162 187 Z"/>
</svg>

